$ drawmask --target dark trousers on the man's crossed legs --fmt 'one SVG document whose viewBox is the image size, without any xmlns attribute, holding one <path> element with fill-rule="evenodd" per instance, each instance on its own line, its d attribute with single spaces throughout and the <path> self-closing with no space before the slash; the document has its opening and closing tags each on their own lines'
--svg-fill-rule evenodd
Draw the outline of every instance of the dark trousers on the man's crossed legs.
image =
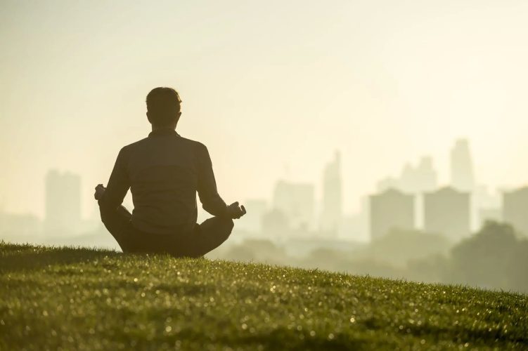
<svg viewBox="0 0 528 351">
<path fill-rule="evenodd" d="M 153 234 L 141 232 L 131 222 L 124 206 L 101 210 L 101 220 L 124 253 L 168 253 L 174 257 L 198 258 L 220 246 L 233 230 L 231 218 L 212 217 L 196 223 L 191 232 Z"/>
</svg>

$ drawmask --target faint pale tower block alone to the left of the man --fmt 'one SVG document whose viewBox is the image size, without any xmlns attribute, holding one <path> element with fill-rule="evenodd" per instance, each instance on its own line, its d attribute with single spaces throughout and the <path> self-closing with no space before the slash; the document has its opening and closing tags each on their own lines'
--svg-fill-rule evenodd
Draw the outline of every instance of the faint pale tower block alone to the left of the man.
<svg viewBox="0 0 528 351">
<path fill-rule="evenodd" d="M 81 223 L 81 178 L 51 170 L 46 174 L 46 234 L 77 234 Z"/>
</svg>

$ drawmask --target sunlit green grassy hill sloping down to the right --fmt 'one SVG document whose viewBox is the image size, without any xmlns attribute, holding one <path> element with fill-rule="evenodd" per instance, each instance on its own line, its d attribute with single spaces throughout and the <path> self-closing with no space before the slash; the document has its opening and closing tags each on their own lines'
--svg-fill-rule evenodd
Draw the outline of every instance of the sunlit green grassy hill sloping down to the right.
<svg viewBox="0 0 528 351">
<path fill-rule="evenodd" d="M 528 349 L 528 296 L 0 244 L 0 350 Z"/>
</svg>

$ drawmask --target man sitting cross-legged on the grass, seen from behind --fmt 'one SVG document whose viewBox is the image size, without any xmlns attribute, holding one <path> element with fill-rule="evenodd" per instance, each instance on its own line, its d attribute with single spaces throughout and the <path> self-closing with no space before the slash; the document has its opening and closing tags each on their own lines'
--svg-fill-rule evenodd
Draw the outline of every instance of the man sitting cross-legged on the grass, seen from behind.
<svg viewBox="0 0 528 351">
<path fill-rule="evenodd" d="M 148 138 L 123 147 L 108 180 L 96 187 L 101 220 L 123 252 L 200 257 L 231 234 L 244 206 L 226 206 L 217 192 L 207 147 L 176 133 L 181 99 L 172 88 L 147 95 Z M 122 206 L 131 190 L 134 211 Z M 196 223 L 196 192 L 214 217 Z"/>
</svg>

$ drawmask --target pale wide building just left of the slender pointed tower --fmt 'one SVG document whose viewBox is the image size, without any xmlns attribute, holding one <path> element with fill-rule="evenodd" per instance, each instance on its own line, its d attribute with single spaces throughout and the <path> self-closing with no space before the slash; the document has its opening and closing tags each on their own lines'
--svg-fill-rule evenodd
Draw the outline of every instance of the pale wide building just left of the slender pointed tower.
<svg viewBox="0 0 528 351">
<path fill-rule="evenodd" d="M 314 185 L 279 180 L 273 192 L 273 208 L 284 213 L 290 229 L 309 230 L 314 227 Z"/>
</svg>

